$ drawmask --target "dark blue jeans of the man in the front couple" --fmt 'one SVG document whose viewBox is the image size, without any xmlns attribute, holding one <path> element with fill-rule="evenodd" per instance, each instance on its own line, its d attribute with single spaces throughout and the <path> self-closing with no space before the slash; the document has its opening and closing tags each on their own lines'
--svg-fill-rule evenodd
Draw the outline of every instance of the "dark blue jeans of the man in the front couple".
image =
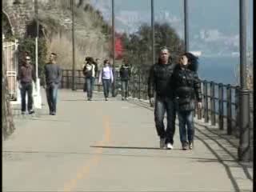
<svg viewBox="0 0 256 192">
<path fill-rule="evenodd" d="M 167 114 L 167 128 L 163 120 Z M 157 96 L 154 106 L 154 122 L 160 138 L 166 138 L 166 143 L 174 143 L 176 110 L 174 100 Z"/>
</svg>

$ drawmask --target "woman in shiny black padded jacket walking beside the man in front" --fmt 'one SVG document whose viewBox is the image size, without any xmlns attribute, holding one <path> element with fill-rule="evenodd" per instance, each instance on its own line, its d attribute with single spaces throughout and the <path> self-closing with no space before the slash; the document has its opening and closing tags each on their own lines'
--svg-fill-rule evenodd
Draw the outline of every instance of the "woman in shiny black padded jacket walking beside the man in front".
<svg viewBox="0 0 256 192">
<path fill-rule="evenodd" d="M 182 149 L 193 149 L 194 123 L 193 110 L 194 99 L 198 102 L 198 108 L 202 107 L 201 82 L 197 74 L 198 58 L 191 53 L 182 54 L 179 65 L 174 70 L 174 95 L 177 102 L 178 122 Z"/>
</svg>

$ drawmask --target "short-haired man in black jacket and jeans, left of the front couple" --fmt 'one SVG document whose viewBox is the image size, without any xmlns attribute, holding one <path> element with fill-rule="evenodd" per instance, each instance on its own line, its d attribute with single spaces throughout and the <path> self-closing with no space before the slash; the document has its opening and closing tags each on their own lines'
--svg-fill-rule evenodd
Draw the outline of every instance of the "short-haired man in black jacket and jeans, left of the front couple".
<svg viewBox="0 0 256 192">
<path fill-rule="evenodd" d="M 176 65 L 171 63 L 170 50 L 167 47 L 160 49 L 158 63 L 150 69 L 148 78 L 148 96 L 150 105 L 154 106 L 154 122 L 158 136 L 160 137 L 160 148 L 166 146 L 167 149 L 173 149 L 175 117 L 174 92 L 172 90 L 171 78 Z M 155 93 L 155 103 L 154 103 Z M 167 128 L 163 123 L 165 113 L 167 114 Z"/>
</svg>

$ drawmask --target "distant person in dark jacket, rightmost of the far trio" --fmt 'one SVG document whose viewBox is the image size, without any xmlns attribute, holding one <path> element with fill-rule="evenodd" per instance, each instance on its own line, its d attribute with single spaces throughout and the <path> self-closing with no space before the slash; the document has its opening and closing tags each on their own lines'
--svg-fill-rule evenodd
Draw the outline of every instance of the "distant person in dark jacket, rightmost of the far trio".
<svg viewBox="0 0 256 192">
<path fill-rule="evenodd" d="M 126 59 L 123 59 L 122 62 L 124 63 L 119 70 L 120 73 L 120 80 L 122 85 L 122 100 L 127 100 L 128 97 L 128 85 L 130 80 L 130 65 L 128 64 Z"/>
</svg>

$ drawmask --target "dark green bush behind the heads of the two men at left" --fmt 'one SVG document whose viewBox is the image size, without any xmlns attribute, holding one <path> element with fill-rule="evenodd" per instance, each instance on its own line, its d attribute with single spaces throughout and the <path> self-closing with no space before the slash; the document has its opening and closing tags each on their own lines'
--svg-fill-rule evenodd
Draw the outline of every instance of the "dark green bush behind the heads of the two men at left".
<svg viewBox="0 0 256 192">
<path fill-rule="evenodd" d="M 18 45 L 18 63 L 22 63 L 22 57 L 25 52 L 28 52 L 35 66 L 35 38 L 24 38 L 19 40 Z M 38 38 L 38 78 L 44 78 L 43 68 L 46 63 L 47 46 L 45 38 Z"/>
</svg>

